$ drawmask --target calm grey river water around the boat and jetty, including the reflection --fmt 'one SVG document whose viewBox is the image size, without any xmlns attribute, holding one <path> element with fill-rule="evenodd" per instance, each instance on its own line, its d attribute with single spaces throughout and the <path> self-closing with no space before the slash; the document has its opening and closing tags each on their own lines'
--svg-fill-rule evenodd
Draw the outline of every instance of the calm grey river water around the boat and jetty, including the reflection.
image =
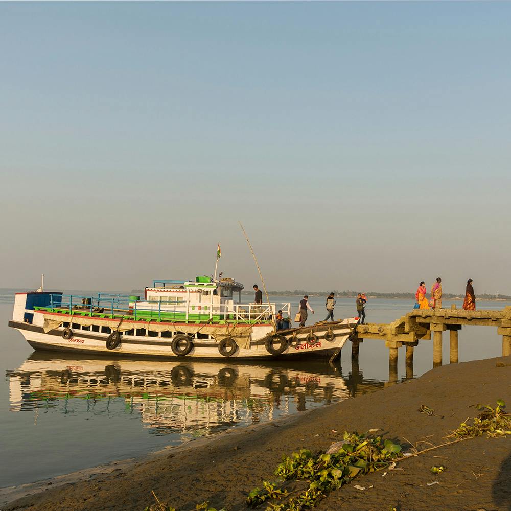
<svg viewBox="0 0 511 511">
<path fill-rule="evenodd" d="M 271 297 L 277 303 L 291 301 L 293 312 L 299 299 Z M 361 344 L 358 367 L 352 367 L 350 344 L 337 369 L 328 362 L 137 361 L 34 352 L 7 327 L 10 301 L 10 292 L 0 291 L 0 369 L 5 375 L 0 378 L 0 487 L 335 403 L 377 391 L 388 378 L 388 350 L 371 340 Z M 309 314 L 309 324 L 326 316 L 323 298 L 311 304 L 316 314 Z M 477 305 L 502 309 L 508 304 Z M 412 306 L 406 300 L 369 300 L 366 320 L 389 322 Z M 336 319 L 354 316 L 354 300 L 337 300 L 335 313 Z M 447 340 L 444 360 L 449 360 L 448 348 Z M 500 355 L 497 329 L 460 331 L 460 362 Z M 415 376 L 431 368 L 432 343 L 420 342 Z M 401 350 L 399 374 L 404 378 Z"/>
</svg>

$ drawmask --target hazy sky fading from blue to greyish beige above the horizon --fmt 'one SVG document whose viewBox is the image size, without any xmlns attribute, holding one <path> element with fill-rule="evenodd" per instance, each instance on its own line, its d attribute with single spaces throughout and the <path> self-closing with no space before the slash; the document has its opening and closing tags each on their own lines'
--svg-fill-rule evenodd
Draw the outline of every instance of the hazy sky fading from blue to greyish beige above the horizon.
<svg viewBox="0 0 511 511">
<path fill-rule="evenodd" d="M 0 3 L 0 287 L 511 294 L 511 3 Z M 253 281 L 253 282 L 252 282 Z"/>
</svg>

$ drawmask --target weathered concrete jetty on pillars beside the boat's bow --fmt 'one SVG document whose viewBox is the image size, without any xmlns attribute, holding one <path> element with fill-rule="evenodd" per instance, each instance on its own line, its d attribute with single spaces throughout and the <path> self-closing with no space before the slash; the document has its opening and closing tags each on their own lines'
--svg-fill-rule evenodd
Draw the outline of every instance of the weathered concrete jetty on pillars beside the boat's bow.
<svg viewBox="0 0 511 511">
<path fill-rule="evenodd" d="M 398 350 L 406 346 L 406 375 L 413 376 L 413 347 L 431 340 L 433 333 L 433 367 L 442 365 L 443 332 L 449 330 L 449 362 L 458 361 L 458 332 L 463 326 L 496 327 L 502 335 L 502 356 L 511 355 L 511 306 L 500 311 L 464 311 L 450 309 L 414 309 L 391 323 L 360 324 L 351 336 L 352 359 L 358 359 L 364 339 L 385 341 L 389 349 L 389 381 L 397 381 Z"/>
</svg>

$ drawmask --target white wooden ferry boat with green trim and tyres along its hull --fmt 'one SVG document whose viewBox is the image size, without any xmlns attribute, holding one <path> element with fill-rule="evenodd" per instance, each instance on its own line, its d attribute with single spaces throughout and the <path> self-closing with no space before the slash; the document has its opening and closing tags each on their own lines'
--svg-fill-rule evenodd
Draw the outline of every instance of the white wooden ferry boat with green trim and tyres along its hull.
<svg viewBox="0 0 511 511">
<path fill-rule="evenodd" d="M 104 293 L 16 293 L 9 326 L 37 350 L 251 359 L 330 356 L 357 324 L 358 318 L 348 318 L 289 328 L 288 320 L 285 329 L 277 330 L 277 311 L 290 318 L 291 304 L 243 304 L 242 289 L 231 278 L 197 277 L 153 281 L 143 299 Z"/>
</svg>

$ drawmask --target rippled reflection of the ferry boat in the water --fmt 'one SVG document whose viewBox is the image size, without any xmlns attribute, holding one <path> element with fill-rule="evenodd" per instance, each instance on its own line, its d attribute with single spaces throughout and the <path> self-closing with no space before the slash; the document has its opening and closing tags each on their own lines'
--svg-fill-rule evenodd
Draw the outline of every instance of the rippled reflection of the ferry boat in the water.
<svg viewBox="0 0 511 511">
<path fill-rule="evenodd" d="M 7 371 L 10 410 L 136 414 L 154 434 L 201 436 L 342 401 L 382 388 L 358 368 L 343 378 L 324 362 L 272 364 L 58 358 L 34 353 Z M 111 406 L 124 401 L 124 407 Z"/>
</svg>

